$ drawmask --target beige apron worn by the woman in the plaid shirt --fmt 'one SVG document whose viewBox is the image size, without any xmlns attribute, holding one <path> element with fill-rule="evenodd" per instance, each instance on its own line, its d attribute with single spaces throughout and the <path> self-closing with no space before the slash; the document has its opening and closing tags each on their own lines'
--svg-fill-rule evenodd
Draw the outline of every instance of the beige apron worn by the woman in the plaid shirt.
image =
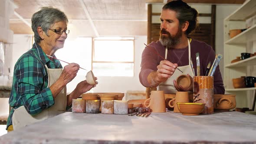
<svg viewBox="0 0 256 144">
<path fill-rule="evenodd" d="M 62 73 L 62 69 L 48 69 L 46 65 L 45 68 L 48 72 L 48 87 L 50 87 L 59 78 L 60 74 Z M 65 86 L 59 95 L 54 98 L 54 105 L 52 105 L 50 108 L 44 109 L 37 115 L 30 115 L 24 106 L 20 106 L 19 108 L 15 109 L 12 118 L 13 130 L 59 115 L 66 110 L 66 106 L 67 95 Z"/>
</svg>

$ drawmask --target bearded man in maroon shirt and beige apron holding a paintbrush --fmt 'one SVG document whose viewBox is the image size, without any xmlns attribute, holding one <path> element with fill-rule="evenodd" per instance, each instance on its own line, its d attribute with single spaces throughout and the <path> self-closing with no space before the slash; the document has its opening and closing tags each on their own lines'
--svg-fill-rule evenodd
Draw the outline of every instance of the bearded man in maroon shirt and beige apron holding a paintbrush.
<svg viewBox="0 0 256 144">
<path fill-rule="evenodd" d="M 196 53 L 200 54 L 200 75 L 205 75 L 209 62 L 213 63 L 215 52 L 211 46 L 187 35 L 198 25 L 198 12 L 182 0 L 174 0 L 164 5 L 161 11 L 160 39 L 146 47 L 141 57 L 140 82 L 148 88 L 157 87 L 164 93 L 175 94 L 177 91 L 193 92 L 194 72 L 190 58 L 196 64 Z M 161 56 L 156 55 L 157 51 Z M 182 72 L 177 70 L 180 69 Z M 188 75 L 191 85 L 188 88 L 177 87 L 175 79 L 179 75 Z M 214 75 L 214 94 L 224 94 L 225 89 L 219 66 Z"/>
</svg>

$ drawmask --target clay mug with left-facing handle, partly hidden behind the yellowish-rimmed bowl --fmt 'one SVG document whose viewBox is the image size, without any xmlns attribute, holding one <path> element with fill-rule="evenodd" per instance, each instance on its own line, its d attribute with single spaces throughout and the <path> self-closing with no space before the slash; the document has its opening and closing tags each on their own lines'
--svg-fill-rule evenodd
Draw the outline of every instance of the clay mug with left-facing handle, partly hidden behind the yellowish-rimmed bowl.
<svg viewBox="0 0 256 144">
<path fill-rule="evenodd" d="M 174 103 L 173 103 L 173 101 L 174 101 Z M 180 112 L 176 105 L 177 102 L 189 102 L 188 92 L 176 92 L 175 98 L 168 102 L 168 105 L 171 108 L 174 108 L 174 112 Z"/>
</svg>

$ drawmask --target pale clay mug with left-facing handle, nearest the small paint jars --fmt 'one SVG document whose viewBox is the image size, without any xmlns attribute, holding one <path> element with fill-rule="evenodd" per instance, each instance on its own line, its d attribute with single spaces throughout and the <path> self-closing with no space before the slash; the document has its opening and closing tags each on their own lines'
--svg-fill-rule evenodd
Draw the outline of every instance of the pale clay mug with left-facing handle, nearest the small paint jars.
<svg viewBox="0 0 256 144">
<path fill-rule="evenodd" d="M 147 101 L 149 101 L 148 105 Z M 144 101 L 144 105 L 149 107 L 152 112 L 166 112 L 164 91 L 151 91 L 151 96 Z"/>
</svg>

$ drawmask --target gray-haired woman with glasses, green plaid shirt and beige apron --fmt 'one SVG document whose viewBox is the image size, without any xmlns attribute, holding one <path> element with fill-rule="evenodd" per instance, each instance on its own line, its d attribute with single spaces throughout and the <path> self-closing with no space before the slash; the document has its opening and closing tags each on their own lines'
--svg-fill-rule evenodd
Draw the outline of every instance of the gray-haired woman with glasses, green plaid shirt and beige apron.
<svg viewBox="0 0 256 144">
<path fill-rule="evenodd" d="M 79 65 L 71 63 L 62 69 L 58 60 L 46 56 L 56 57 L 54 53 L 64 46 L 69 33 L 66 15 L 58 9 L 43 7 L 33 14 L 31 21 L 35 43 L 14 66 L 7 131 L 60 114 L 71 107 L 72 99 L 96 86 L 85 80 L 66 95 L 66 85 L 75 78 Z"/>
</svg>

